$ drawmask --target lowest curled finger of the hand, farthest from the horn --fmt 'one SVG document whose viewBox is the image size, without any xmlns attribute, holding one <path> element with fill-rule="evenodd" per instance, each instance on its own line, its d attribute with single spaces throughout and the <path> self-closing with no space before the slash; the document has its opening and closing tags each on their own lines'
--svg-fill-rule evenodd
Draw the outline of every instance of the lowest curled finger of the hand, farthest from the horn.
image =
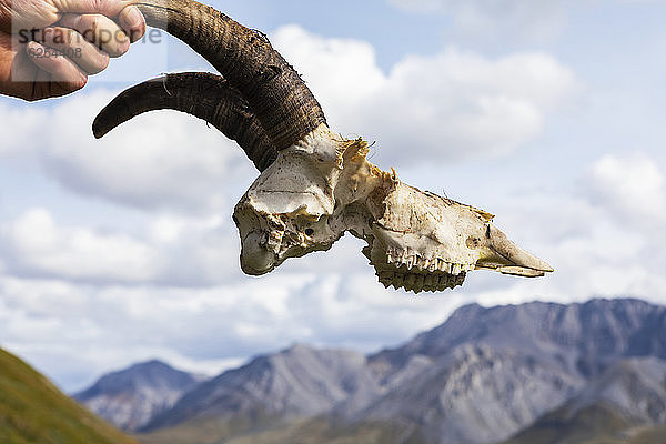
<svg viewBox="0 0 666 444">
<path fill-rule="evenodd" d="M 39 69 L 49 73 L 49 77 L 38 74 L 36 88 L 42 90 L 39 95 L 58 97 L 69 94 L 80 90 L 88 82 L 88 75 L 67 57 L 47 57 L 46 54 L 57 53 L 53 49 L 47 48 L 38 42 L 30 42 L 26 46 L 28 58 Z M 48 81 L 47 81 L 48 80 Z"/>
</svg>

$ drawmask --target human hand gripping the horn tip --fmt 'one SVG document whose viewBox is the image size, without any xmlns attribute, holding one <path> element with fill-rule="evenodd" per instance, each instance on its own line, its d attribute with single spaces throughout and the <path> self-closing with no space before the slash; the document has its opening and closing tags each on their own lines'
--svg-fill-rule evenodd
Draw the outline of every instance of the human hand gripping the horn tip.
<svg viewBox="0 0 666 444">
<path fill-rule="evenodd" d="M 0 93 L 28 101 L 85 85 L 145 32 L 135 0 L 0 0 Z"/>
</svg>

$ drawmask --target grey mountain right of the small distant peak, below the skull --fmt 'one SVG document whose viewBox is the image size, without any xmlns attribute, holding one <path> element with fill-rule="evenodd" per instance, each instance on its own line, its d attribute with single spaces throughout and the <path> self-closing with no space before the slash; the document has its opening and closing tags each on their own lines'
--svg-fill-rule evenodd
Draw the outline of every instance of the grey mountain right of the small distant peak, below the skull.
<svg viewBox="0 0 666 444">
<path fill-rule="evenodd" d="M 208 417 L 310 417 L 352 394 L 365 402 L 379 392 L 363 355 L 297 345 L 201 384 L 147 430 Z"/>
</svg>

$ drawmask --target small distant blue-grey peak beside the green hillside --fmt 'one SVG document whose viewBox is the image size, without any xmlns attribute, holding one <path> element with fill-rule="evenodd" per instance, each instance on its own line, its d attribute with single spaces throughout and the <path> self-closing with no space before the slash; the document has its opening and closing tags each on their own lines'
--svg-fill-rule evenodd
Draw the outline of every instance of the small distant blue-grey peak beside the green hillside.
<svg viewBox="0 0 666 444">
<path fill-rule="evenodd" d="M 150 361 L 104 375 L 74 398 L 118 427 L 137 431 L 196 384 L 195 376 Z"/>
</svg>

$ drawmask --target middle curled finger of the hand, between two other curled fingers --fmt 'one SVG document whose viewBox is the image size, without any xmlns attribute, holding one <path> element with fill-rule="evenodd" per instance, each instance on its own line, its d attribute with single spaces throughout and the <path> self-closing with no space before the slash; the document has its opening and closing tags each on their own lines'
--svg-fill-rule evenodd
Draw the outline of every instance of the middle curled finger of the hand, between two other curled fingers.
<svg viewBox="0 0 666 444">
<path fill-rule="evenodd" d="M 109 65 L 109 54 L 69 28 L 46 28 L 36 39 L 75 62 L 87 74 L 97 74 Z"/>
</svg>

